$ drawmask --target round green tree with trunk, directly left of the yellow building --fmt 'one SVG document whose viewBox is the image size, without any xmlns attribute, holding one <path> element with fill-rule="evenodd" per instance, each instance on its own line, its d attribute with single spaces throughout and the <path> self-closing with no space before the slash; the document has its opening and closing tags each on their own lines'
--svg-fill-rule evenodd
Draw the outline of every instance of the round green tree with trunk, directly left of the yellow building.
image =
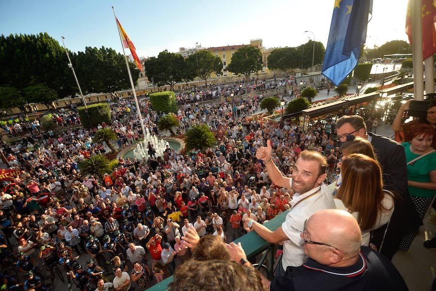
<svg viewBox="0 0 436 291">
<path fill-rule="evenodd" d="M 204 80 L 204 84 L 207 86 L 207 79 L 210 78 L 212 73 L 219 74 L 222 70 L 222 62 L 219 57 L 214 56 L 208 50 L 200 50 L 194 54 L 191 54 L 187 58 L 187 62 L 189 63 L 190 69 L 194 68 L 195 75 L 199 75 L 202 80 Z M 197 66 L 198 63 L 198 66 Z M 197 73 L 198 67 L 198 73 Z"/>
</svg>

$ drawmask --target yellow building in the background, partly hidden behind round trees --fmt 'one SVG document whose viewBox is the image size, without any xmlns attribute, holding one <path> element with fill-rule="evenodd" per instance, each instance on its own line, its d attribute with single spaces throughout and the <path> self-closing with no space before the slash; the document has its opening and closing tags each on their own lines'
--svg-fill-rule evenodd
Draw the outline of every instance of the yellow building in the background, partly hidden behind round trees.
<svg viewBox="0 0 436 291">
<path fill-rule="evenodd" d="M 271 53 L 271 51 L 269 49 L 265 49 L 262 46 L 262 39 L 261 38 L 256 38 L 256 39 L 250 40 L 249 45 L 233 45 L 233 46 L 228 45 L 228 46 L 224 46 L 224 47 L 212 47 L 212 48 L 206 49 L 206 50 L 209 50 L 213 55 L 219 57 L 222 61 L 221 74 L 216 75 L 215 73 L 213 73 L 211 75 L 211 77 L 217 78 L 217 77 L 232 77 L 232 76 L 234 76 L 234 74 L 232 72 L 229 72 L 227 70 L 227 65 L 229 65 L 232 62 L 232 56 L 233 56 L 234 52 L 236 50 L 238 50 L 239 48 L 242 48 L 245 46 L 253 46 L 256 49 L 261 50 L 264 65 L 263 65 L 263 69 L 261 71 L 259 71 L 258 73 L 259 73 L 259 75 L 268 74 L 269 70 L 266 67 L 266 57 Z"/>
</svg>

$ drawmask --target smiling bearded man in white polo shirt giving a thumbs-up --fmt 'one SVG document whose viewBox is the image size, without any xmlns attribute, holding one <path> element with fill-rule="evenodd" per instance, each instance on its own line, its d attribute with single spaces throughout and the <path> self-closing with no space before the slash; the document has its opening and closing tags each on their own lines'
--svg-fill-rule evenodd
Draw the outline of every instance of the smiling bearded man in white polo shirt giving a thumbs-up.
<svg viewBox="0 0 436 291">
<path fill-rule="evenodd" d="M 291 188 L 294 191 L 294 197 L 290 202 L 291 210 L 286 215 L 283 224 L 275 231 L 269 230 L 252 219 L 247 219 L 244 227 L 256 231 L 268 242 L 283 242 L 283 258 L 276 275 L 284 275 L 288 266 L 300 266 L 307 259 L 304 254 L 304 242 L 300 237 L 304 221 L 316 211 L 334 209 L 335 204 L 330 191 L 324 184 L 327 161 L 323 155 L 315 151 L 301 152 L 294 165 L 292 178 L 287 178 L 281 175 L 271 160 L 271 151 L 271 141 L 268 140 L 266 147 L 261 146 L 257 150 L 256 157 L 264 161 L 269 178 L 274 184 Z"/>
</svg>

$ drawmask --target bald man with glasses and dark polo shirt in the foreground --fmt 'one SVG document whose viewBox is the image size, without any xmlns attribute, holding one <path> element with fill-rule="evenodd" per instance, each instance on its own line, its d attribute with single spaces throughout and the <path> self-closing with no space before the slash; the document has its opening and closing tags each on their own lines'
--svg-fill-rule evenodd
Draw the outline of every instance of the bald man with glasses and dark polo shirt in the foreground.
<svg viewBox="0 0 436 291">
<path fill-rule="evenodd" d="M 328 209 L 313 213 L 300 234 L 309 259 L 299 267 L 287 267 L 284 275 L 269 282 L 270 291 L 407 290 L 394 265 L 383 255 L 361 246 L 360 228 L 344 210 Z M 228 245 L 232 259 L 249 265 L 241 245 Z"/>
</svg>

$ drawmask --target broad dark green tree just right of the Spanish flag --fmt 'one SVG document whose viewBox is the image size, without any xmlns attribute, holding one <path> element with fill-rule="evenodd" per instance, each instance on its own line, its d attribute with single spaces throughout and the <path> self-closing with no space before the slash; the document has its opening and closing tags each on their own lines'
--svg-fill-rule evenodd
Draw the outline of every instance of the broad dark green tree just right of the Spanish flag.
<svg viewBox="0 0 436 291">
<path fill-rule="evenodd" d="M 161 51 L 156 57 L 151 57 L 145 62 L 145 75 L 149 81 L 158 86 L 169 85 L 170 90 L 178 82 L 185 79 L 185 70 L 189 67 L 185 59 L 176 53 Z"/>
</svg>

